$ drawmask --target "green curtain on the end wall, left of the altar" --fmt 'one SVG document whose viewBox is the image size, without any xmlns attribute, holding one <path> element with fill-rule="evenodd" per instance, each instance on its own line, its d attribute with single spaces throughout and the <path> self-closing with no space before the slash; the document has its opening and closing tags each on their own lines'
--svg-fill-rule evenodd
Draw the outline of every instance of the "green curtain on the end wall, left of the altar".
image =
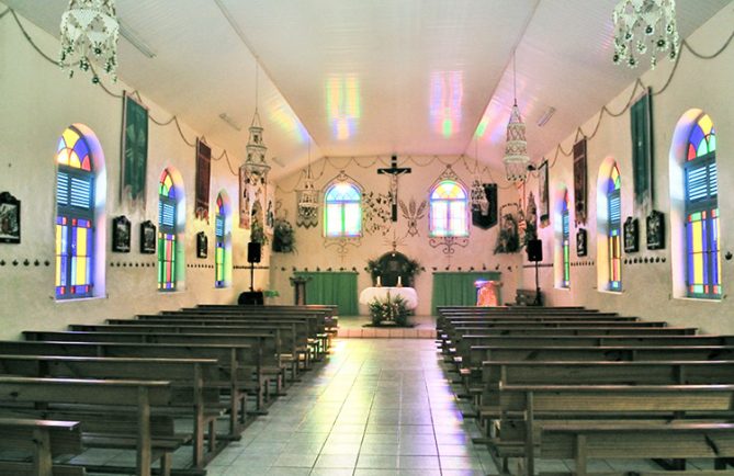
<svg viewBox="0 0 734 476">
<path fill-rule="evenodd" d="M 357 273 L 353 271 L 296 272 L 306 282 L 306 304 L 339 306 L 340 316 L 357 316 Z"/>
</svg>

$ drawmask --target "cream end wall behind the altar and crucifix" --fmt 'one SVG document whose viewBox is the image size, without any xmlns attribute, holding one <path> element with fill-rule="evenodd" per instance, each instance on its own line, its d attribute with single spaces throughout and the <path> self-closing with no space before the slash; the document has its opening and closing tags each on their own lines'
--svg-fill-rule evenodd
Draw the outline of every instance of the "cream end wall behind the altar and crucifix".
<svg viewBox="0 0 734 476">
<path fill-rule="evenodd" d="M 384 162 L 384 163 L 383 163 Z M 340 170 L 355 180 L 364 193 L 374 192 L 386 194 L 389 186 L 387 175 L 379 175 L 377 169 L 388 167 L 387 159 L 375 162 L 373 159 L 351 160 L 349 158 L 329 158 L 320 159 L 313 163 L 312 169 L 317 177 L 316 189 L 324 188 L 337 177 Z M 472 172 L 475 169 L 475 162 L 471 158 L 456 157 L 420 157 L 415 159 L 398 158 L 400 167 L 410 167 L 411 173 L 399 177 L 398 182 L 398 199 L 409 203 L 411 199 L 419 204 L 424 200 L 428 200 L 429 190 L 438 180 L 441 172 L 444 170 L 444 163 L 454 163 L 452 169 L 459 179 L 468 186 L 472 182 Z M 323 170 L 323 172 L 321 172 Z M 501 177 L 502 172 L 493 171 L 494 177 Z M 433 248 L 429 245 L 428 238 L 428 208 L 426 208 L 425 216 L 418 220 L 418 235 L 408 235 L 408 225 L 406 218 L 403 217 L 398 208 L 397 224 L 386 224 L 389 226 L 386 234 L 376 231 L 374 234 L 365 233 L 361 238 L 359 246 L 348 247 L 346 254 L 337 253 L 335 247 L 326 247 L 324 239 L 324 220 L 323 206 L 319 207 L 319 222 L 315 228 L 297 228 L 295 227 L 296 217 L 296 194 L 293 189 L 296 186 L 300 174 L 286 177 L 279 182 L 279 190 L 276 200 L 280 203 L 279 216 L 286 217 L 286 219 L 294 226 L 295 229 L 295 253 L 272 253 L 271 257 L 271 286 L 279 291 L 279 303 L 293 303 L 293 288 L 290 285 L 289 277 L 293 275 L 293 269 L 303 271 L 316 271 L 319 268 L 321 271 L 331 268 L 339 270 L 343 268 L 351 270 L 355 268 L 358 275 L 358 291 L 371 286 L 370 273 L 364 271 L 368 260 L 376 260 L 383 253 L 392 251 L 393 231 L 398 239 L 397 251 L 406 254 L 408 258 L 417 260 L 426 271 L 421 272 L 416 277 L 416 291 L 418 293 L 418 308 L 416 314 L 428 315 L 431 314 L 431 286 L 432 272 L 445 271 L 447 267 L 450 271 L 468 271 L 474 268 L 481 271 L 484 268 L 487 270 L 500 271 L 501 280 L 505 283 L 501 290 L 501 295 L 505 299 L 515 299 L 515 290 L 518 282 L 516 277 L 519 274 L 518 265 L 520 263 L 520 254 L 494 254 L 493 250 L 497 242 L 498 226 L 494 226 L 488 230 L 471 226 L 468 245 L 465 248 L 454 247 L 454 253 L 449 256 L 442 252 L 441 247 Z M 489 182 L 488 172 L 483 175 L 484 182 Z M 501 185 L 501 184 L 500 184 Z M 518 193 L 515 188 L 500 189 L 498 191 L 499 204 L 508 202 L 517 202 Z M 363 220 L 364 222 L 364 220 Z M 365 225 L 363 223 L 363 225 Z M 360 314 L 368 314 L 366 306 L 360 305 Z"/>
</svg>

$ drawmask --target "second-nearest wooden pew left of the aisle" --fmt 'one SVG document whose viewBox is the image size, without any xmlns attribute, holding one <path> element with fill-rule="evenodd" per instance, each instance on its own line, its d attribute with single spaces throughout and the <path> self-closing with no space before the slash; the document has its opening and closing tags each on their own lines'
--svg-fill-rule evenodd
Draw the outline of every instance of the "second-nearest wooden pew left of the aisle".
<svg viewBox="0 0 734 476">
<path fill-rule="evenodd" d="M 86 446 L 104 447 L 126 447 L 128 443 L 125 441 L 132 440 L 136 447 L 137 476 L 150 476 L 155 453 L 160 453 L 161 474 L 170 474 L 171 454 L 181 442 L 177 441 L 172 433 L 153 434 L 150 419 L 151 406 L 166 406 L 170 401 L 171 388 L 168 382 L 0 376 L 0 405 L 3 406 L 7 404 L 102 405 L 108 412 L 111 406 L 117 406 L 121 410 L 116 415 L 122 415 L 124 408 L 121 403 L 132 403 L 135 411 L 128 415 L 136 423 L 136 434 L 133 438 L 83 432 L 82 440 Z M 84 413 L 79 415 L 86 418 Z M 79 420 L 83 427 L 84 419 Z"/>
</svg>

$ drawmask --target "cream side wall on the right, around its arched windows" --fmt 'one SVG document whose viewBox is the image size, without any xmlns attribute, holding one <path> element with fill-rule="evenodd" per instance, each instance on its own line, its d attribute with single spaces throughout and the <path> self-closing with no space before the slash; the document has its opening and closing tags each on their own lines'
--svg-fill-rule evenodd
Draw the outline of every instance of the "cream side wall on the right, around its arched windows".
<svg viewBox="0 0 734 476">
<path fill-rule="evenodd" d="M 697 52 L 710 55 L 718 50 L 732 33 L 734 24 L 734 5 L 726 7 L 711 19 L 699 31 L 690 36 L 688 42 Z M 642 77 L 642 81 L 651 86 L 654 91 L 665 84 L 671 65 L 662 60 L 654 71 Z M 701 109 L 714 121 L 718 138 L 716 163 L 719 167 L 719 206 L 722 216 L 722 253 L 734 250 L 734 206 L 730 194 L 734 190 L 734 172 L 731 165 L 734 150 L 734 99 L 732 84 L 734 83 L 734 45 L 711 60 L 696 58 L 690 52 L 684 50 L 678 69 L 668 89 L 653 99 L 653 129 L 654 129 L 654 193 L 655 209 L 666 215 L 666 249 L 648 251 L 645 248 L 645 222 L 639 211 L 633 209 L 632 182 L 632 149 L 630 136 L 630 113 L 620 117 L 606 115 L 599 133 L 588 141 L 588 220 L 585 228 L 588 230 L 589 256 L 577 258 L 572 252 L 571 290 L 555 290 L 553 287 L 552 268 L 541 270 L 541 286 L 546 293 L 550 303 L 555 305 L 585 305 L 605 310 L 617 310 L 621 314 L 640 316 L 645 319 L 668 320 L 673 325 L 698 326 L 709 332 L 734 331 L 734 306 L 730 297 L 730 286 L 734 280 L 733 262 L 722 259 L 722 282 L 724 296 L 721 302 L 702 299 L 687 299 L 673 297 L 673 271 L 670 236 L 671 231 L 680 229 L 679 225 L 670 227 L 670 189 L 679 191 L 681 183 L 671 184 L 669 180 L 669 154 L 671 138 L 676 124 L 680 117 L 691 109 Z M 612 100 L 607 106 L 609 110 L 620 111 L 632 91 L 630 86 Z M 581 124 L 583 131 L 590 133 L 597 124 L 598 114 Z M 571 149 L 575 134 L 563 140 L 563 148 Z M 554 150 L 547 152 L 552 158 Z M 623 264 L 623 292 L 620 294 L 607 293 L 597 288 L 597 246 L 605 247 L 597 240 L 597 178 L 605 160 L 617 161 L 622 175 L 622 220 L 634 215 L 640 219 L 640 252 L 623 256 L 626 259 L 659 259 L 659 262 Z M 569 157 L 558 157 L 551 169 L 551 197 L 562 184 L 568 186 L 573 202 L 573 160 Z M 529 184 L 537 190 L 537 181 Z M 551 209 L 555 205 L 551 203 Z M 572 223 L 574 220 L 572 206 Z M 556 219 L 552 216 L 552 219 Z M 675 224 L 674 224 L 675 225 Z M 544 241 L 545 256 L 553 248 L 553 227 L 541 230 Z M 575 243 L 575 229 L 572 231 L 572 243 Z M 575 249 L 575 246 L 572 245 Z M 663 260 L 665 260 L 663 262 Z M 546 259 L 546 262 L 550 262 Z M 594 265 L 590 263 L 594 262 Z M 534 280 L 532 271 L 526 269 L 526 282 Z"/>
</svg>

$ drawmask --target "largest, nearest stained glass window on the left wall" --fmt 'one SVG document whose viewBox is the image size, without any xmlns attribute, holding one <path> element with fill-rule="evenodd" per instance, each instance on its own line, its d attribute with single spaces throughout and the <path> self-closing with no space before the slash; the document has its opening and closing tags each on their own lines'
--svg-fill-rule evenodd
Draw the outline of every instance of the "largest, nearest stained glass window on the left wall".
<svg viewBox="0 0 734 476">
<path fill-rule="evenodd" d="M 56 298 L 92 296 L 94 173 L 89 144 L 74 126 L 56 149 Z"/>
</svg>

